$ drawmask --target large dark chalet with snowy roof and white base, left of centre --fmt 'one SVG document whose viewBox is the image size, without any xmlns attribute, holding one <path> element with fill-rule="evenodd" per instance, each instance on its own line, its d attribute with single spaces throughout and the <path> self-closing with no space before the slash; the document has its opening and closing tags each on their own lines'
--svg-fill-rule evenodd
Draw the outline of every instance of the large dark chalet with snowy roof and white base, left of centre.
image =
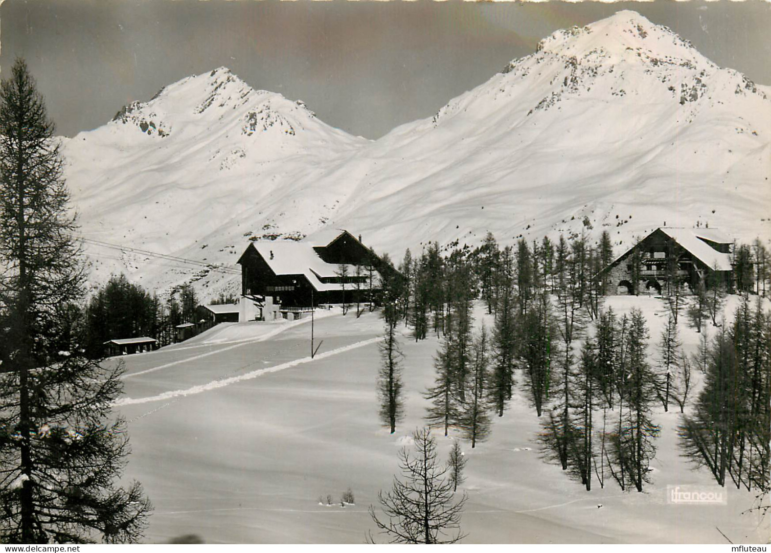
<svg viewBox="0 0 771 553">
<path fill-rule="evenodd" d="M 237 263 L 241 265 L 241 321 L 270 320 L 281 313 L 342 303 L 344 297 L 346 303 L 357 297 L 365 301 L 369 294 L 377 297 L 382 291 L 383 275 L 396 273 L 347 230 L 299 242 L 252 242 Z"/>
</svg>

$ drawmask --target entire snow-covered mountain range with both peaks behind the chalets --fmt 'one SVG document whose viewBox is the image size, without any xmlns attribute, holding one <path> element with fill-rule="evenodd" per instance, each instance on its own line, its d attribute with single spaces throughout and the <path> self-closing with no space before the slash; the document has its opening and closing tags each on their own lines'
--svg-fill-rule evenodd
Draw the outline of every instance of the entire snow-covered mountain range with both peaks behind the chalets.
<svg viewBox="0 0 771 553">
<path fill-rule="evenodd" d="M 219 69 L 65 151 L 84 235 L 232 263 L 249 236 L 325 224 L 392 256 L 487 230 L 510 243 L 607 228 L 625 244 L 699 221 L 739 240 L 771 236 L 769 136 L 771 89 L 624 11 L 555 32 L 374 142 Z M 158 287 L 183 279 L 141 261 L 122 270 Z"/>
</svg>

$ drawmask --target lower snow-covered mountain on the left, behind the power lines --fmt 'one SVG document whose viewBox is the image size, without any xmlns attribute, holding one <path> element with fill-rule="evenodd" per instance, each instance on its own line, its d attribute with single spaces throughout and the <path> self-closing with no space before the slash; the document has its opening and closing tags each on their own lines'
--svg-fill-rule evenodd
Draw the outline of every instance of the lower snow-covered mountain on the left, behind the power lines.
<svg viewBox="0 0 771 553">
<path fill-rule="evenodd" d="M 86 214 L 83 236 L 232 263 L 246 237 L 298 238 L 328 220 L 349 185 L 311 189 L 314 170 L 366 142 L 220 67 L 131 102 L 63 143 L 72 197 Z M 95 280 L 120 272 L 141 280 L 158 267 L 128 253 L 89 255 Z M 190 277 L 179 268 L 156 273 L 154 286 L 178 283 L 180 274 Z"/>
</svg>

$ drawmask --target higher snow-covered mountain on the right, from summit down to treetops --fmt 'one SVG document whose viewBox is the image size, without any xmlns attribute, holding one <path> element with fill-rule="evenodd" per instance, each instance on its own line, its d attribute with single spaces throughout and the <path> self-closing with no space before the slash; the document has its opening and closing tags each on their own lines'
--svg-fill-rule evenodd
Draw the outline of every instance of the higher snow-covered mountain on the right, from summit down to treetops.
<svg viewBox="0 0 771 553">
<path fill-rule="evenodd" d="M 433 119 L 370 145 L 377 174 L 341 218 L 381 247 L 568 233 L 584 216 L 619 241 L 665 221 L 768 236 L 769 96 L 619 12 L 554 33 Z"/>
</svg>

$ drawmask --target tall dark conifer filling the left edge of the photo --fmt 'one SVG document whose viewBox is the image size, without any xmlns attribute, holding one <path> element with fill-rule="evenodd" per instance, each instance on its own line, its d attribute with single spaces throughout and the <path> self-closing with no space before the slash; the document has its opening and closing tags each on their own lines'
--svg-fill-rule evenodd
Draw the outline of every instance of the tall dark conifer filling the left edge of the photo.
<svg viewBox="0 0 771 553">
<path fill-rule="evenodd" d="M 89 360 L 68 316 L 85 265 L 62 164 L 19 59 L 0 87 L 0 541 L 136 541 L 150 504 L 115 485 L 122 367 Z"/>
</svg>

